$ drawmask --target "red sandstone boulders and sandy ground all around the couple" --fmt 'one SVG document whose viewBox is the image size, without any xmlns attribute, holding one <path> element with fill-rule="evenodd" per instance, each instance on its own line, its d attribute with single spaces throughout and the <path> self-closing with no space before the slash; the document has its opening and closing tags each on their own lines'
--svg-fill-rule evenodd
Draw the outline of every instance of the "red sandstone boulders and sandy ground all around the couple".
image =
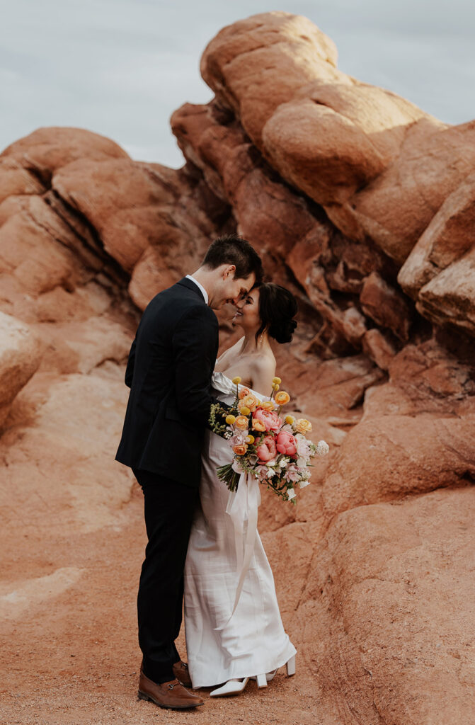
<svg viewBox="0 0 475 725">
<path fill-rule="evenodd" d="M 0 721 L 475 722 L 474 124 L 285 13 L 223 29 L 202 75 L 181 170 L 80 129 L 0 154 Z M 141 492 L 113 458 L 140 310 L 236 230 L 299 299 L 278 374 L 331 454 L 260 510 L 297 675 L 183 715 L 136 702 Z"/>
</svg>

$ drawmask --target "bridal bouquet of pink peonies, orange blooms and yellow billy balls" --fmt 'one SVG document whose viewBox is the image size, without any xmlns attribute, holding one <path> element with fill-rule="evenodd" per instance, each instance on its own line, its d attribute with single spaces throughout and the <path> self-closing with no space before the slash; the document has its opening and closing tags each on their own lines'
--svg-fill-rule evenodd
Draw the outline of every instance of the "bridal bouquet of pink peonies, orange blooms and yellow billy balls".
<svg viewBox="0 0 475 725">
<path fill-rule="evenodd" d="M 295 486 L 302 489 L 310 483 L 310 460 L 326 455 L 329 446 L 305 438 L 312 430 L 305 418 L 281 418 L 282 407 L 290 401 L 289 394 L 279 390 L 281 378 L 273 378 L 270 397 L 263 402 L 249 389 L 239 390 L 240 382 L 241 378 L 233 378 L 236 397 L 231 408 L 225 410 L 219 403 L 211 407 L 212 431 L 226 438 L 234 452 L 232 463 L 218 468 L 218 478 L 236 491 L 241 474 L 249 473 L 285 501 L 295 503 Z"/>
</svg>

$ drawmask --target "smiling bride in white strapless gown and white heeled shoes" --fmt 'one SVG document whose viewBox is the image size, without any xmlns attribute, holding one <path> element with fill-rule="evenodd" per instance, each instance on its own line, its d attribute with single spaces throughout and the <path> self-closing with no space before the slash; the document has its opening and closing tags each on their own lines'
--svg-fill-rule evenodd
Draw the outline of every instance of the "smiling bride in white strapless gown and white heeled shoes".
<svg viewBox="0 0 475 725">
<path fill-rule="evenodd" d="M 260 400 L 268 399 L 276 359 L 270 338 L 289 342 L 297 323 L 294 296 L 284 287 L 263 283 L 241 302 L 233 323 L 244 336 L 221 355 L 212 376 L 213 394 L 234 400 L 232 378 L 241 377 Z M 240 484 L 226 513 L 229 492 L 216 469 L 232 460 L 228 442 L 207 431 L 202 452 L 201 505 L 194 517 L 185 566 L 186 650 L 194 688 L 212 687 L 211 697 L 242 692 L 249 679 L 265 687 L 276 669 L 295 672 L 296 650 L 284 631 L 272 571 L 255 534 L 247 572 L 239 571 L 248 528 L 257 517 L 257 494 Z M 229 507 L 228 507 L 229 511 Z M 248 539 L 249 540 L 249 539 Z"/>
</svg>

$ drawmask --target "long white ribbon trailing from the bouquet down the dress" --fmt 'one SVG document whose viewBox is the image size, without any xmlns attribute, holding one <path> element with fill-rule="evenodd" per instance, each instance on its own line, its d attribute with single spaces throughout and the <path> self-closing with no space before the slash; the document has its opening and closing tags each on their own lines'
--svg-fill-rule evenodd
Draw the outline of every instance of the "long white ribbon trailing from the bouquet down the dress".
<svg viewBox="0 0 475 725">
<path fill-rule="evenodd" d="M 239 580 L 236 588 L 236 595 L 234 596 L 234 605 L 231 612 L 231 616 L 228 618 L 226 624 L 223 626 L 215 627 L 217 631 L 224 629 L 228 626 L 229 622 L 234 616 L 237 605 L 239 604 L 239 598 L 241 597 L 242 587 L 244 586 L 244 579 L 246 579 L 249 566 L 251 564 L 252 555 L 254 554 L 255 540 L 257 535 L 257 508 L 260 506 L 260 489 L 259 481 L 255 476 L 251 476 L 248 473 L 241 473 L 239 479 L 238 489 L 244 486 L 246 491 L 246 500 L 244 511 L 236 507 L 236 491 L 231 492 L 228 497 L 228 505 L 226 506 L 226 513 L 231 517 L 231 521 L 234 526 L 234 543 L 236 546 L 236 570 L 239 571 Z M 241 489 L 242 490 L 242 489 Z M 244 514 L 244 515 L 243 515 Z M 247 521 L 247 531 L 244 536 L 245 523 Z M 244 539 L 244 545 L 243 545 Z"/>
</svg>

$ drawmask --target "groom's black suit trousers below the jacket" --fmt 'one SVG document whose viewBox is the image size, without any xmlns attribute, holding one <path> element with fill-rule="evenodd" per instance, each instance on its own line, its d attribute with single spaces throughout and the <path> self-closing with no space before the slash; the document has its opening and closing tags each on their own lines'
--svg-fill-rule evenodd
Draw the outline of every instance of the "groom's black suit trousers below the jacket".
<svg viewBox="0 0 475 725">
<path fill-rule="evenodd" d="M 144 673 L 153 682 L 175 679 L 180 660 L 175 639 L 181 628 L 183 570 L 198 501 L 198 489 L 157 473 L 133 469 L 144 492 L 146 535 L 137 613 Z"/>
</svg>

